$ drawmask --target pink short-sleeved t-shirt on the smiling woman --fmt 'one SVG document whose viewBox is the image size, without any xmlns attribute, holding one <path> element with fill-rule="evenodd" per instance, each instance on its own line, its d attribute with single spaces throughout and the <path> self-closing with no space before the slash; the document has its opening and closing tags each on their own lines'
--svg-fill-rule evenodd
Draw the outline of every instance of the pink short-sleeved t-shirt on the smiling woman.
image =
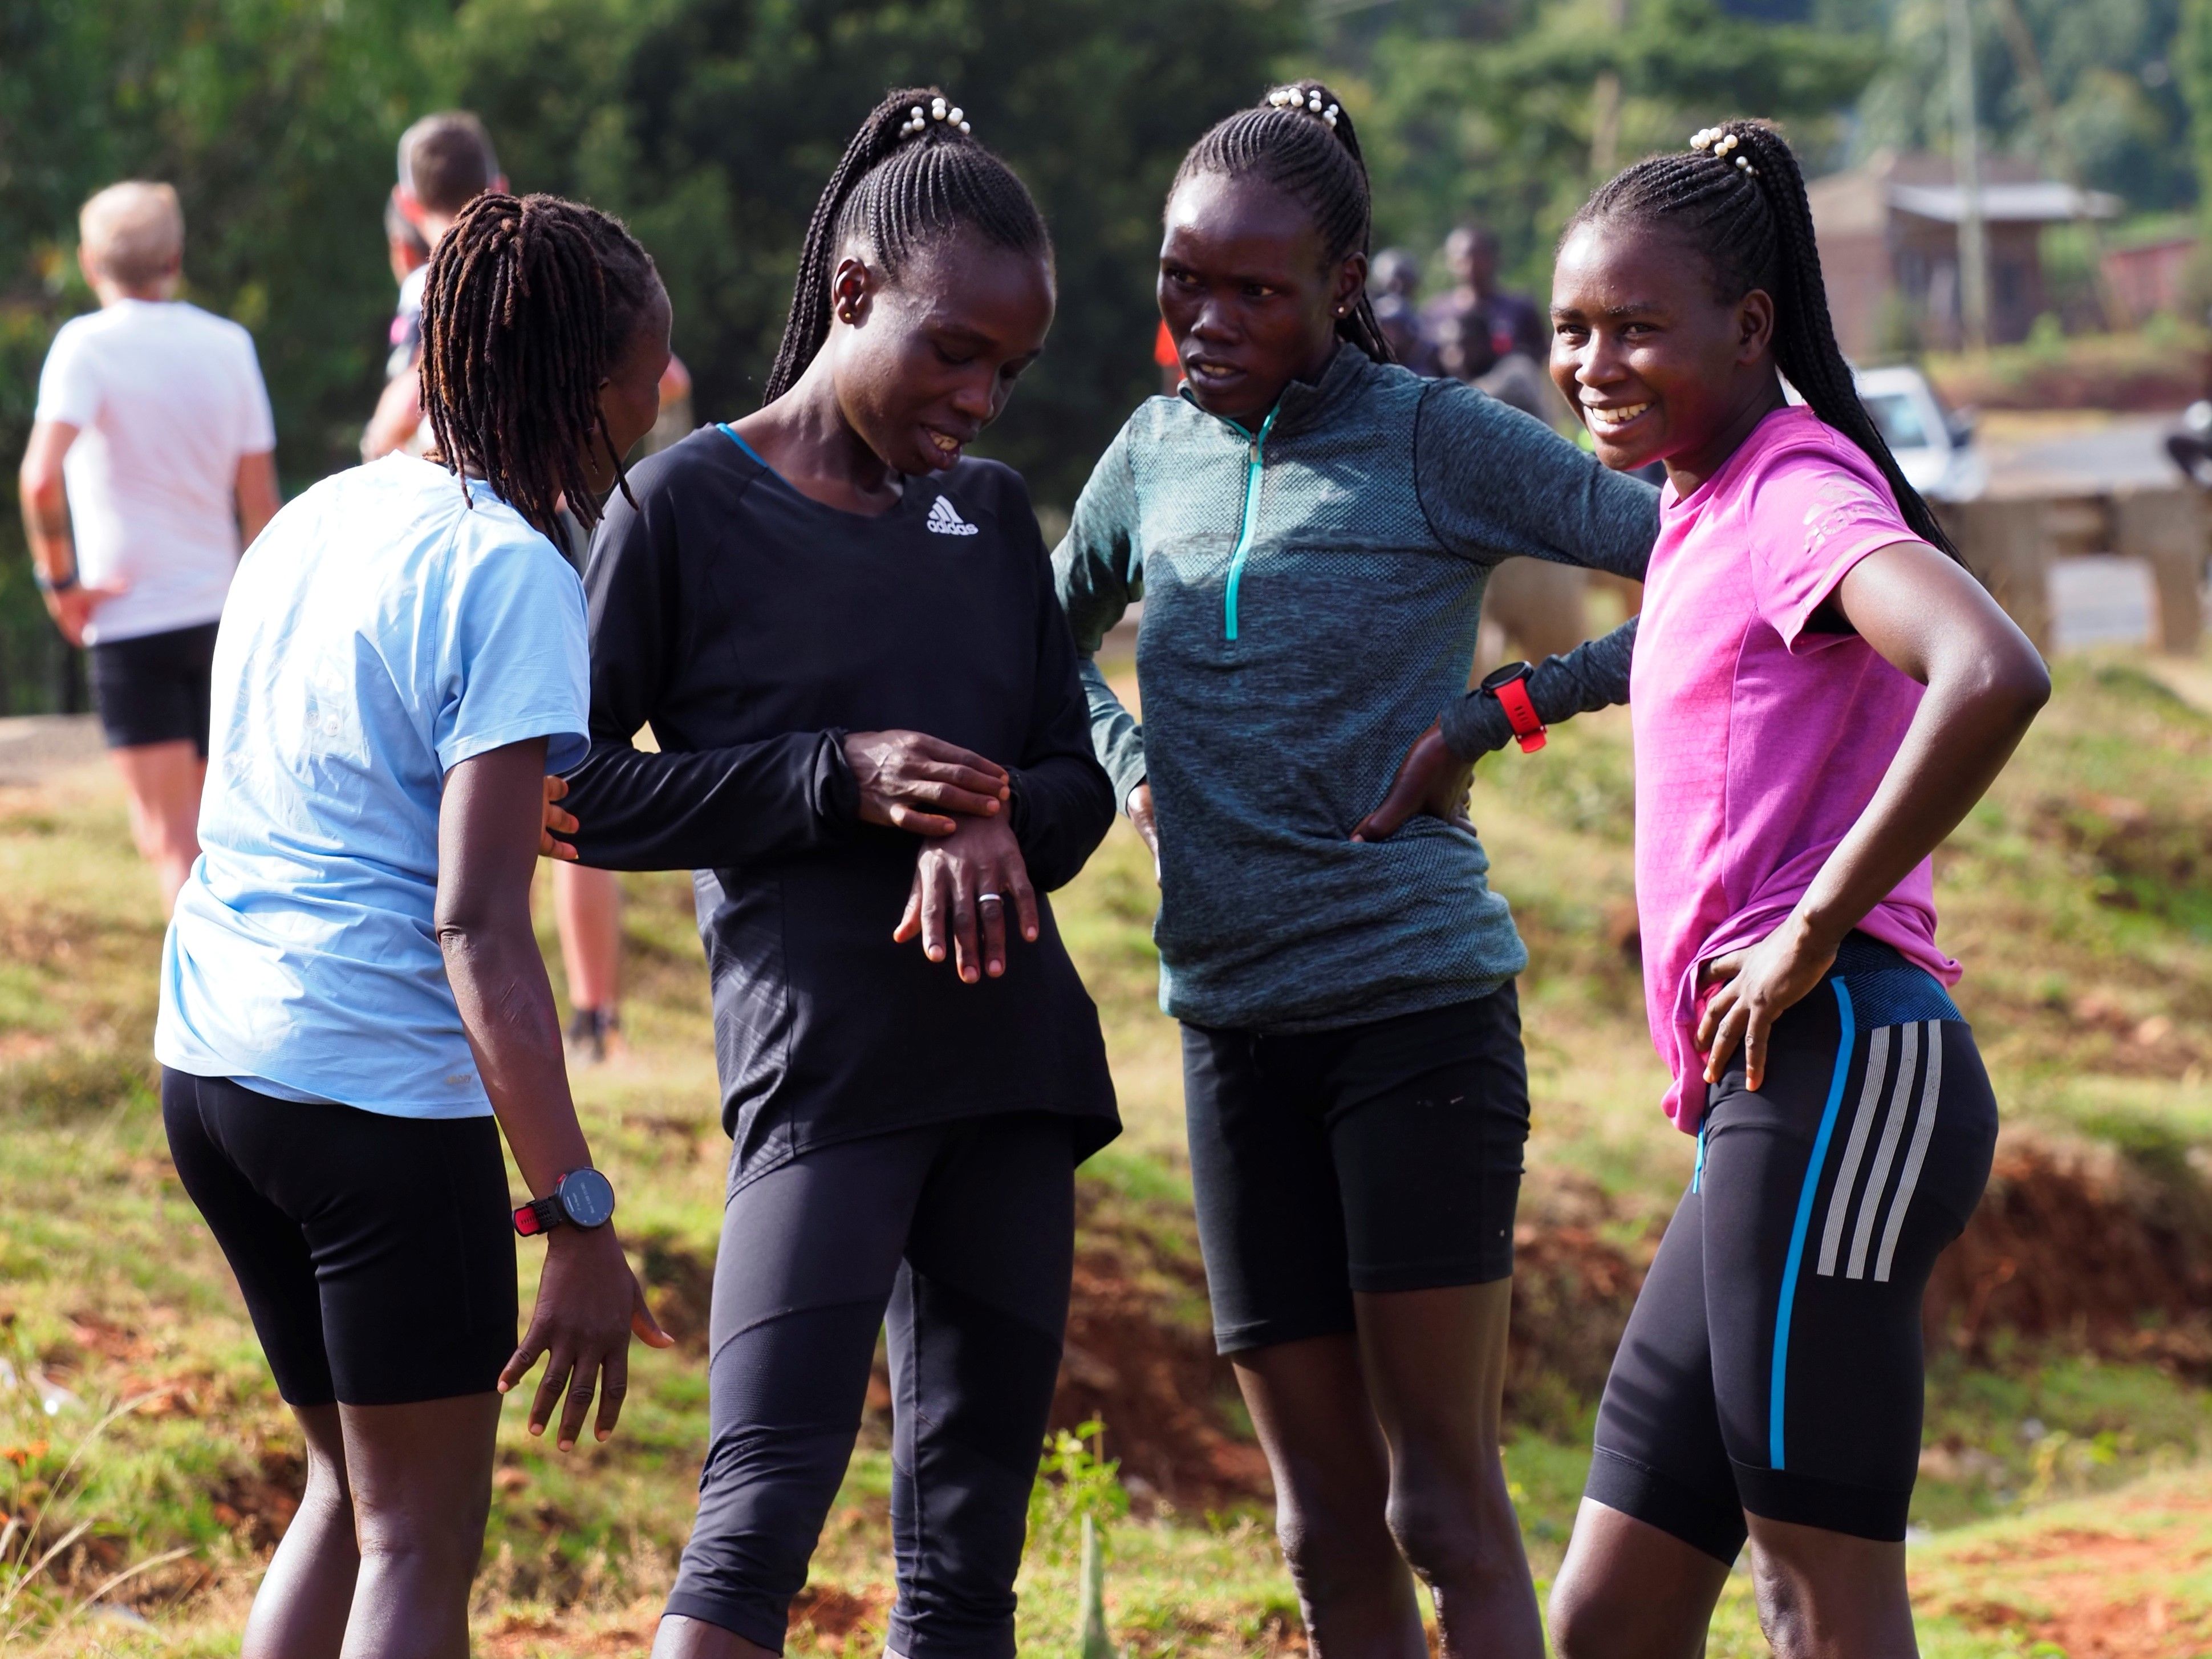
<svg viewBox="0 0 2212 1659">
<path fill-rule="evenodd" d="M 1874 462 L 1803 407 L 1761 420 L 1694 493 L 1659 498 L 1630 670 L 1637 916 L 1681 1130 L 1705 1115 L 1699 967 L 1796 907 L 1920 708 L 1911 677 L 1814 613 L 1863 557 L 1916 540 Z M 1927 860 L 1860 931 L 1958 982 Z"/>
</svg>

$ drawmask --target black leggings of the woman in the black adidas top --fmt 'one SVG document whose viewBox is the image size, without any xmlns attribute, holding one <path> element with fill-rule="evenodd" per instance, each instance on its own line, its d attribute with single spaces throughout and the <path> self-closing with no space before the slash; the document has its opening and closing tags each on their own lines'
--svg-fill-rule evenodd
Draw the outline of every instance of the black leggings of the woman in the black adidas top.
<svg viewBox="0 0 2212 1659">
<path fill-rule="evenodd" d="M 668 1613 L 783 1648 L 889 1325 L 889 1646 L 1011 1659 L 1073 1263 L 1064 1117 L 841 1141 L 739 1188 L 714 1259 L 699 1522 Z"/>
</svg>

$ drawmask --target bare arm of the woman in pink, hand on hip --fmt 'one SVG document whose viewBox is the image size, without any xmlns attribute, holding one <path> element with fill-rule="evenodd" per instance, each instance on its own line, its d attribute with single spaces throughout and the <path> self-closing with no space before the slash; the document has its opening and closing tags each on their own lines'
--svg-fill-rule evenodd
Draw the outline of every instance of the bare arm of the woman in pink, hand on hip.
<svg viewBox="0 0 2212 1659">
<path fill-rule="evenodd" d="M 1743 1082 L 1759 1088 L 1767 1033 L 1836 960 L 1858 927 L 1958 827 L 2051 699 L 2035 646 L 1980 582 L 1924 542 L 1863 557 L 1836 586 L 1845 619 L 1927 697 L 1882 785 L 1796 909 L 1759 945 L 1708 964 L 1719 982 L 1697 1029 L 1705 1082 L 1743 1044 Z"/>
</svg>

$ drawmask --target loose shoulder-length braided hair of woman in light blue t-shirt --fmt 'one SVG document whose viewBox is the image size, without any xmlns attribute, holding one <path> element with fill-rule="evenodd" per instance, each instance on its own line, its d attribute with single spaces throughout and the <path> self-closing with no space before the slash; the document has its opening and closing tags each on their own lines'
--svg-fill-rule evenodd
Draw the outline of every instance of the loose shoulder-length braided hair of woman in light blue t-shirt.
<svg viewBox="0 0 2212 1659">
<path fill-rule="evenodd" d="M 438 460 L 551 540 L 560 507 L 591 529 L 586 460 L 599 385 L 661 290 L 653 257 L 597 208 L 560 197 L 480 195 L 429 261 L 422 290 L 422 414 Z M 615 480 L 630 493 L 615 458 Z"/>
</svg>

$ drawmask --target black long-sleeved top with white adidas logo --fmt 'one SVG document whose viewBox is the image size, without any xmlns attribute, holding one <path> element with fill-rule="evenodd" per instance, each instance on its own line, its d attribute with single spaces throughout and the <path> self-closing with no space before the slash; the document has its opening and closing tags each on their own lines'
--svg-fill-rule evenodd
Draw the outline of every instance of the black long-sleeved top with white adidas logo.
<svg viewBox="0 0 2212 1659">
<path fill-rule="evenodd" d="M 1053 925 L 1113 823 L 1075 646 L 1018 473 L 909 478 L 880 518 L 801 495 L 721 427 L 630 473 L 593 542 L 586 865 L 692 869 L 732 1188 L 830 1141 L 1002 1110 L 1119 1130 Z M 633 745 L 648 726 L 659 752 Z M 962 984 L 894 945 L 920 838 L 865 825 L 843 737 L 905 728 L 1013 776 L 1040 938 Z M 1009 907 L 1011 922 L 1011 907 Z"/>
</svg>

